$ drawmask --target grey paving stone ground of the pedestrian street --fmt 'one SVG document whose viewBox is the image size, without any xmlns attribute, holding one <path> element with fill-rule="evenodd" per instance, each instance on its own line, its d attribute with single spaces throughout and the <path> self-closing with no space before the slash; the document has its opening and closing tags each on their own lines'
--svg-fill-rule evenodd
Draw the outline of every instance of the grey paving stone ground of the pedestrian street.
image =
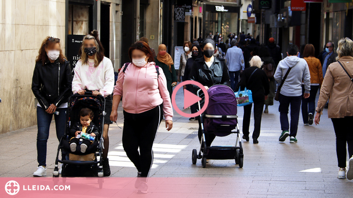
<svg viewBox="0 0 353 198">
<path fill-rule="evenodd" d="M 178 92 L 176 101 L 179 107 L 183 106 L 182 92 Z M 190 109 L 183 111 L 189 113 Z M 150 177 L 210 178 L 213 181 L 197 184 L 198 190 L 191 189 L 191 195 L 187 197 L 353 197 L 353 181 L 336 178 L 335 133 L 326 110 L 318 126 L 304 126 L 300 119 L 296 144 L 290 144 L 289 138 L 285 143 L 278 143 L 281 133 L 278 102 L 270 106 L 269 112 L 263 114 L 259 144 L 252 144 L 252 140 L 243 141 L 243 168 L 235 165 L 234 160 L 210 160 L 206 168 L 201 167 L 200 160 L 192 165 L 191 151 L 199 147 L 197 121 L 189 121 L 174 112 L 171 131 L 166 131 L 164 121 L 160 124 Z M 118 116 L 118 125 L 123 127 L 121 105 Z M 243 107 L 238 107 L 238 116 L 241 131 Z M 252 130 L 253 119 L 250 126 Z M 136 168 L 126 157 L 121 137 L 122 129 L 115 123 L 110 125 L 110 177 L 135 177 Z M 234 145 L 235 140 L 235 135 L 216 137 L 213 145 Z M 55 123 L 52 122 L 47 148 L 47 177 L 52 177 L 57 147 Z M 38 165 L 36 126 L 3 134 L 0 151 L 0 177 L 32 177 Z M 222 178 L 231 182 L 219 182 Z M 168 193 L 165 196 L 168 197 Z M 156 194 L 143 197 L 156 197 Z"/>
</svg>

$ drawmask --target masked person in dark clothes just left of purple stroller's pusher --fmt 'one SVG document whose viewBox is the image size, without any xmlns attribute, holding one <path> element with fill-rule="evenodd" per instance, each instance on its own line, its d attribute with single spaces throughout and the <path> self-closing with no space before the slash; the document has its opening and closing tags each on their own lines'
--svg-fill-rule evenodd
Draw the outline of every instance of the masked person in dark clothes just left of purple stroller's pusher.
<svg viewBox="0 0 353 198">
<path fill-rule="evenodd" d="M 191 53 L 191 58 L 187 60 L 187 64 L 185 65 L 184 76 L 182 81 L 190 80 L 190 72 L 195 60 L 203 56 L 202 50 L 199 45 L 193 45 L 191 47 Z M 184 89 L 187 89 L 192 93 L 194 92 L 190 85 L 184 85 Z M 197 112 L 196 103 L 190 106 L 190 110 L 192 114 Z M 192 117 L 189 120 L 196 120 L 196 118 Z"/>
</svg>

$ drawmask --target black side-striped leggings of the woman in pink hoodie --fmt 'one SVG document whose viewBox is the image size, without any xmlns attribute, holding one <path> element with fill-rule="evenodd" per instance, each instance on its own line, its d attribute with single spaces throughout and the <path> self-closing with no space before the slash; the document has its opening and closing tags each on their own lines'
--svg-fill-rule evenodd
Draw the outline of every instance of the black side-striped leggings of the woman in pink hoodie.
<svg viewBox="0 0 353 198">
<path fill-rule="evenodd" d="M 123 147 L 142 177 L 148 177 L 153 164 L 152 146 L 162 120 L 162 105 L 140 114 L 124 111 Z M 140 152 L 137 150 L 140 147 Z"/>
</svg>

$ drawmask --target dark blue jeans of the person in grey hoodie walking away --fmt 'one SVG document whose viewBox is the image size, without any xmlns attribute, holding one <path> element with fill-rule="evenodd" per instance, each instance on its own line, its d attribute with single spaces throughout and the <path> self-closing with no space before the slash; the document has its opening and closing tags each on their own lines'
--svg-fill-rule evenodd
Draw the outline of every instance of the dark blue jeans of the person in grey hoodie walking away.
<svg viewBox="0 0 353 198">
<path fill-rule="evenodd" d="M 300 104 L 302 103 L 302 96 L 284 96 L 280 94 L 280 112 L 281 129 L 289 130 L 288 111 L 290 105 L 290 134 L 295 137 L 298 131 Z"/>
</svg>

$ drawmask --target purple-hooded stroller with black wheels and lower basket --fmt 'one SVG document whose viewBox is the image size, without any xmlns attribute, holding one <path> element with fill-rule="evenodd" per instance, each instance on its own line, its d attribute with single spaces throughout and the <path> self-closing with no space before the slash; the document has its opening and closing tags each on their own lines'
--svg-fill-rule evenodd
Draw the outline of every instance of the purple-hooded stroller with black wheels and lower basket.
<svg viewBox="0 0 353 198">
<path fill-rule="evenodd" d="M 196 164 L 197 159 L 202 159 L 202 167 L 205 168 L 207 159 L 235 159 L 235 164 L 239 164 L 239 167 L 242 168 L 244 154 L 239 137 L 238 116 L 236 115 L 237 105 L 234 92 L 226 85 L 211 86 L 207 92 L 209 94 L 209 104 L 206 111 L 200 116 L 202 129 L 200 151 L 197 154 L 197 150 L 193 149 L 192 163 Z M 200 93 L 201 90 L 198 90 L 197 96 L 200 97 Z M 198 102 L 199 109 L 201 109 L 200 101 Z M 206 146 L 205 134 L 207 133 L 213 133 L 219 137 L 237 134 L 235 146 Z"/>
</svg>

